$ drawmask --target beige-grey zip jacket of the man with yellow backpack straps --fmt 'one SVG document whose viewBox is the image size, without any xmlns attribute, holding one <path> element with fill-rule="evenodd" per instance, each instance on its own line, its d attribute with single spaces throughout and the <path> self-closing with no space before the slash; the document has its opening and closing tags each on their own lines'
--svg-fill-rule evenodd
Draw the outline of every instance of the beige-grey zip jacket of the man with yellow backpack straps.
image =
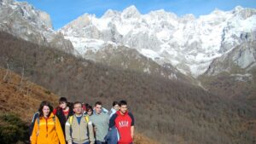
<svg viewBox="0 0 256 144">
<path fill-rule="evenodd" d="M 87 123 L 84 115 L 81 118 L 80 124 L 78 123 L 78 119 L 75 114 L 73 115 L 72 121 L 70 118 L 67 119 L 65 125 L 67 142 L 84 143 L 90 141 L 90 144 L 94 144 L 95 138 L 93 134 L 92 123 L 90 121 Z"/>
</svg>

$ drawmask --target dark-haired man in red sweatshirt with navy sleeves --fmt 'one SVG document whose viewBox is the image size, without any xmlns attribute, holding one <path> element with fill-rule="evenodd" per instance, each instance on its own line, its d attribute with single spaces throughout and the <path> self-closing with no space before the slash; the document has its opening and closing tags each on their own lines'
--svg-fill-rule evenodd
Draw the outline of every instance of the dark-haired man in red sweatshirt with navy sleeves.
<svg viewBox="0 0 256 144">
<path fill-rule="evenodd" d="M 113 126 L 119 131 L 119 144 L 131 144 L 134 136 L 134 118 L 127 110 L 127 102 L 119 102 L 119 111 L 114 113 L 109 120 L 109 128 Z"/>
</svg>

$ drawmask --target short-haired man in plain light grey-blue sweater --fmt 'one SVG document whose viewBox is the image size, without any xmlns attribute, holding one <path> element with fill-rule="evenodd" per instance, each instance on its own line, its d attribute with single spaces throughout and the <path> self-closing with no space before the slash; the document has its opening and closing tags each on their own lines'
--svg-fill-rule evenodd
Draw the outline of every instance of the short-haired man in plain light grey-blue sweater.
<svg viewBox="0 0 256 144">
<path fill-rule="evenodd" d="M 96 129 L 96 144 L 107 144 L 104 137 L 108 134 L 109 117 L 107 113 L 102 112 L 102 102 L 95 103 L 95 110 L 90 120 Z"/>
</svg>

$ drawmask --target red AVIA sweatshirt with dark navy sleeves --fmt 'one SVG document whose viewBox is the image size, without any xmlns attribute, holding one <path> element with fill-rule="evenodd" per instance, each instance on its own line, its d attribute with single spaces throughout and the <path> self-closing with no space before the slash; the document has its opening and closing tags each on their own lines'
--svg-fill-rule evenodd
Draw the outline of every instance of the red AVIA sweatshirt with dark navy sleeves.
<svg viewBox="0 0 256 144">
<path fill-rule="evenodd" d="M 134 125 L 134 118 L 131 112 L 125 112 L 122 115 L 119 111 L 114 113 L 109 120 L 109 128 L 115 126 L 119 131 L 120 139 L 119 144 L 130 144 L 131 138 L 131 126 Z"/>
</svg>

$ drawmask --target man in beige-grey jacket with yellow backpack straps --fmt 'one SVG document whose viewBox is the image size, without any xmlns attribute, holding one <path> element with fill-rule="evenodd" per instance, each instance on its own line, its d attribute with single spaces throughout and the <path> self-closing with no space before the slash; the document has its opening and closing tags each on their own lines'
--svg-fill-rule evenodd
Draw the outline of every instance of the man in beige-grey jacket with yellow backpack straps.
<svg viewBox="0 0 256 144">
<path fill-rule="evenodd" d="M 75 102 L 73 111 L 75 114 L 67 119 L 65 127 L 66 141 L 68 144 L 94 144 L 92 123 L 83 115 L 82 103 Z"/>
</svg>

